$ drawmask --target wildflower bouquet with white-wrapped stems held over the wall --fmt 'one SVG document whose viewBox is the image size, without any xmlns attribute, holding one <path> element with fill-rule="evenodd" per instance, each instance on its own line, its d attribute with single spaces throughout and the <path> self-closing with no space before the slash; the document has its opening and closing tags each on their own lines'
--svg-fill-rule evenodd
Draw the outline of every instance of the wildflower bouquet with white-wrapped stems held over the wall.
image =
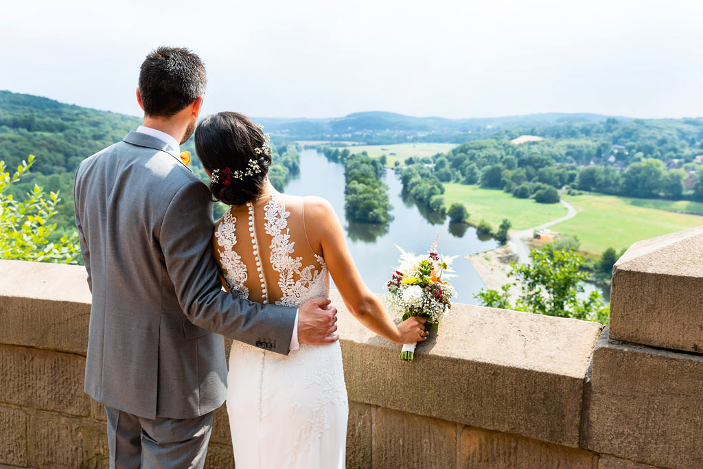
<svg viewBox="0 0 703 469">
<path fill-rule="evenodd" d="M 439 236 L 438 236 L 439 238 Z M 439 330 L 439 321 L 446 315 L 451 303 L 451 297 L 456 296 L 456 290 L 445 280 L 451 278 L 451 262 L 458 256 L 445 257 L 437 254 L 437 240 L 426 255 L 416 256 L 401 252 L 399 262 L 391 279 L 386 283 L 388 294 L 386 303 L 388 311 L 396 319 L 405 321 L 413 316 L 427 318 L 434 330 Z M 404 361 L 413 361 L 415 357 L 414 344 L 405 344 L 400 354 Z"/>
</svg>

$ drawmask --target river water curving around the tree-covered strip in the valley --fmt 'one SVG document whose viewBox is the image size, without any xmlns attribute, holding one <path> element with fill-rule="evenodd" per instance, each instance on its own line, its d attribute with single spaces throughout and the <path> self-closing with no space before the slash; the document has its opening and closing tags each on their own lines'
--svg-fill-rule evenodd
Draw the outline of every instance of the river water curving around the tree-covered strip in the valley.
<svg viewBox="0 0 703 469">
<path fill-rule="evenodd" d="M 401 181 L 388 169 L 385 183 L 389 186 L 393 221 L 387 225 L 349 223 L 344 214 L 344 167 L 329 162 L 314 149 L 300 153 L 300 174 L 288 183 L 285 192 L 291 195 L 318 195 L 335 207 L 346 228 L 347 243 L 356 266 L 368 287 L 383 293 L 399 252 L 395 244 L 408 252 L 427 252 L 439 234 L 439 251 L 448 256 L 459 255 L 454 261 L 458 278 L 453 284 L 458 290 L 458 302 L 476 304 L 473 294 L 484 284 L 465 255 L 496 248 L 498 243 L 481 240 L 472 226 L 453 226 L 446 217 L 433 217 L 412 200 L 401 195 Z M 451 225 L 451 226 L 450 226 Z"/>
</svg>

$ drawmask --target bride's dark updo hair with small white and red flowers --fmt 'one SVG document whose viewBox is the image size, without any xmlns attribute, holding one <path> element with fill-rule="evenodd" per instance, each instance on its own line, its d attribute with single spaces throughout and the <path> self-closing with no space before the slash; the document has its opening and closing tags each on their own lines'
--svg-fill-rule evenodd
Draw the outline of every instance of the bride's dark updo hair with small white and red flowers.
<svg viewBox="0 0 703 469">
<path fill-rule="evenodd" d="M 271 165 L 271 152 L 261 151 L 266 140 L 264 133 L 249 117 L 240 113 L 217 113 L 205 117 L 195 129 L 195 151 L 208 172 L 217 174 L 218 181 L 210 182 L 210 198 L 227 205 L 243 205 L 262 193 Z M 238 179 L 227 174 L 246 174 L 250 160 L 259 166 L 259 172 Z M 241 173 L 237 173 L 241 172 Z"/>
</svg>

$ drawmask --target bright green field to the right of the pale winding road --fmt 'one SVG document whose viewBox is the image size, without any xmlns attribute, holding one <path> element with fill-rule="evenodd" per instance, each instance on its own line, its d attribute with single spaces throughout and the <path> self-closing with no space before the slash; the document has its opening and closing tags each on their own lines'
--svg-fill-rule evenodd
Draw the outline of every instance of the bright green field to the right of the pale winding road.
<svg viewBox="0 0 703 469">
<path fill-rule="evenodd" d="M 689 207 L 691 203 L 687 201 L 596 194 L 565 195 L 564 200 L 574 205 L 578 214 L 551 229 L 567 236 L 578 236 L 581 250 L 588 252 L 600 253 L 610 247 L 619 252 L 639 240 L 703 225 L 703 217 L 699 215 L 669 211 Z M 690 205 L 698 209 L 700 206 Z"/>
</svg>

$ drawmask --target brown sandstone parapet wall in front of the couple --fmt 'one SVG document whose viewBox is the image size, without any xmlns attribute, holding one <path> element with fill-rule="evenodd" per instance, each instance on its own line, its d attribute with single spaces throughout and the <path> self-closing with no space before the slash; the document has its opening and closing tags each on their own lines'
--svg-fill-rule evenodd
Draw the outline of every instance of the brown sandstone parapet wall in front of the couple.
<svg viewBox="0 0 703 469">
<path fill-rule="evenodd" d="M 703 229 L 633 245 L 610 330 L 459 304 L 412 364 L 333 293 L 347 467 L 702 468 L 700 248 Z M 107 467 L 82 392 L 89 302 L 82 267 L 0 261 L 0 468 Z M 223 407 L 207 466 L 232 465 Z"/>
</svg>

